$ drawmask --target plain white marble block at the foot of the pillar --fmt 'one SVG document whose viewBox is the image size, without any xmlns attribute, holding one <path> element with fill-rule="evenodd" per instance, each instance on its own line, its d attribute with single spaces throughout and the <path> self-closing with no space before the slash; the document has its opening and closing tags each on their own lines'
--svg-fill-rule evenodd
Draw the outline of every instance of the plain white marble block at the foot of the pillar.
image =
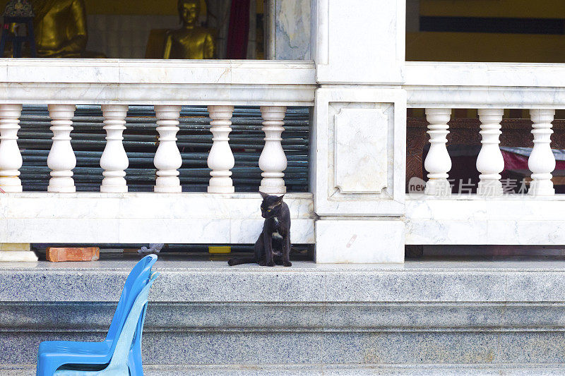
<svg viewBox="0 0 565 376">
<path fill-rule="evenodd" d="M 404 262 L 404 222 L 358 219 L 316 221 L 316 262 Z"/>
</svg>

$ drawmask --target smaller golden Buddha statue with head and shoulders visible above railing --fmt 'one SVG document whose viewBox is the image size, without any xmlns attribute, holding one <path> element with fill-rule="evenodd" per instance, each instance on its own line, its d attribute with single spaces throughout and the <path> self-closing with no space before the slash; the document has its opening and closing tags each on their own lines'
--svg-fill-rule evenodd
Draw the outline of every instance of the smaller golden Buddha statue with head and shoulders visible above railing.
<svg viewBox="0 0 565 376">
<path fill-rule="evenodd" d="M 199 0 L 179 0 L 182 28 L 167 32 L 165 59 L 213 59 L 215 38 L 210 29 L 198 26 Z"/>
</svg>

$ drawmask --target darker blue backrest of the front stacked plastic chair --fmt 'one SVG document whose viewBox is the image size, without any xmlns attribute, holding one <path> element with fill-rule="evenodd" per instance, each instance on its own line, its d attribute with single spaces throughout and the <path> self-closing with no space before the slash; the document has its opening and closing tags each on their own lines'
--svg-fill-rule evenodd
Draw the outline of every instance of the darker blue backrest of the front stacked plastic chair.
<svg viewBox="0 0 565 376">
<path fill-rule="evenodd" d="M 139 293 L 147 286 L 149 277 L 151 275 L 151 267 L 157 261 L 156 255 L 147 255 L 143 257 L 129 273 L 124 284 L 124 289 L 121 291 L 112 324 L 108 329 L 106 341 L 112 341 L 112 351 L 116 346 L 117 336 L 121 332 L 122 327 L 129 315 L 129 311 L 136 301 Z"/>
</svg>

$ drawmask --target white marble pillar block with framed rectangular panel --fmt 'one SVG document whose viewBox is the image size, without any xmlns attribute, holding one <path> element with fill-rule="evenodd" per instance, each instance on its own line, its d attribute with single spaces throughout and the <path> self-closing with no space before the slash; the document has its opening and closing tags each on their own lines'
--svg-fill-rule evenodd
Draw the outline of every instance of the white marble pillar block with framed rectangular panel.
<svg viewBox="0 0 565 376">
<path fill-rule="evenodd" d="M 316 90 L 312 169 L 319 216 L 404 213 L 403 90 Z"/>
</svg>

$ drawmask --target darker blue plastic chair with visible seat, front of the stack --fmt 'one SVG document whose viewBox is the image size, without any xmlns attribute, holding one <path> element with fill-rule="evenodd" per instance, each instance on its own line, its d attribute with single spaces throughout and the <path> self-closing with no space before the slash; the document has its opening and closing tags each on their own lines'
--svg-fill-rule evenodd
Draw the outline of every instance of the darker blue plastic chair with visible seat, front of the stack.
<svg viewBox="0 0 565 376">
<path fill-rule="evenodd" d="M 66 368 L 83 369 L 95 367 L 103 370 L 110 363 L 116 353 L 116 347 L 124 325 L 128 319 L 134 303 L 144 291 L 150 280 L 151 267 L 157 261 L 156 255 L 147 255 L 140 260 L 131 270 L 108 329 L 105 341 L 102 342 L 75 342 L 75 341 L 44 341 L 40 344 L 37 353 L 37 376 L 52 376 L 54 372 L 65 366 Z M 141 319 L 141 320 L 140 320 Z M 129 354 L 126 357 L 129 364 L 129 375 L 143 375 L 141 364 L 141 333 L 145 320 L 145 306 L 135 319 L 136 331 L 133 334 L 133 344 L 130 342 Z"/>
</svg>

